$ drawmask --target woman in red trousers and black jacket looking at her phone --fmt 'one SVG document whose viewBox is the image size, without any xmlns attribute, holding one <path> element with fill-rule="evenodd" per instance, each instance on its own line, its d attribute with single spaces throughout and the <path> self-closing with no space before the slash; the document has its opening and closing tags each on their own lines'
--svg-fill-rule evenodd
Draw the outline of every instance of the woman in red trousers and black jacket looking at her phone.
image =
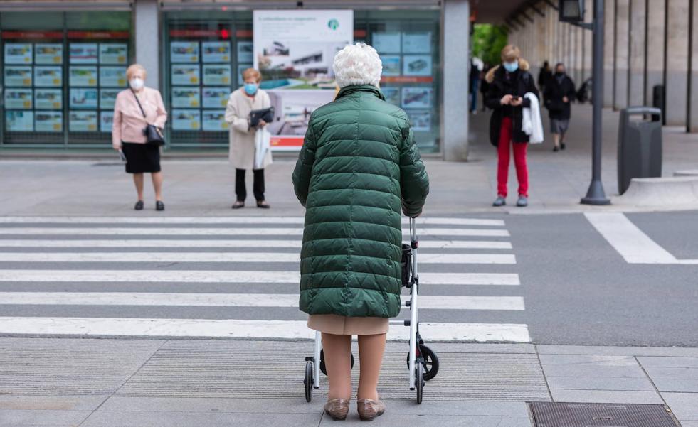
<svg viewBox="0 0 698 427">
<path fill-rule="evenodd" d="M 509 156 L 514 151 L 514 166 L 519 181 L 517 206 L 528 205 L 529 173 L 526 151 L 529 135 L 522 130 L 523 109 L 531 107 L 527 93 L 538 98 L 529 63 L 521 58 L 519 48 L 506 45 L 502 49 L 502 65 L 487 72 L 490 83 L 485 102 L 493 112 L 490 117 L 490 142 L 497 147 L 497 198 L 493 206 L 504 206 L 507 200 Z M 512 148 L 509 148 L 511 146 Z"/>
</svg>

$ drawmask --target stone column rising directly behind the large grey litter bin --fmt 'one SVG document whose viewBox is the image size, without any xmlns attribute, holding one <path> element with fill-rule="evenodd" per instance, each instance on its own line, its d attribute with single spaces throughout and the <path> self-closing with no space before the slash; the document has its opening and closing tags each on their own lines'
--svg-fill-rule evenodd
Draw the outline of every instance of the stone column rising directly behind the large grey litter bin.
<svg viewBox="0 0 698 427">
<path fill-rule="evenodd" d="M 645 0 L 630 0 L 630 105 L 643 105 L 645 102 L 645 13 Z"/>
</svg>

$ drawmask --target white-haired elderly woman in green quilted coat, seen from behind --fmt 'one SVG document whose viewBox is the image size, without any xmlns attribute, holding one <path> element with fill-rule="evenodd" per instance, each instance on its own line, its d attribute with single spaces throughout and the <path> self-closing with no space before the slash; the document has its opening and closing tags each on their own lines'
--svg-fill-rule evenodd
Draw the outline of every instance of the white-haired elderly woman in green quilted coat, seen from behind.
<svg viewBox="0 0 698 427">
<path fill-rule="evenodd" d="M 377 385 L 388 318 L 400 313 L 401 210 L 421 214 L 429 178 L 407 114 L 379 90 L 381 59 L 349 45 L 334 58 L 340 90 L 316 109 L 293 171 L 305 206 L 300 309 L 322 333 L 336 420 L 351 399 L 351 336 L 359 337 L 359 418 L 384 413 Z"/>
</svg>

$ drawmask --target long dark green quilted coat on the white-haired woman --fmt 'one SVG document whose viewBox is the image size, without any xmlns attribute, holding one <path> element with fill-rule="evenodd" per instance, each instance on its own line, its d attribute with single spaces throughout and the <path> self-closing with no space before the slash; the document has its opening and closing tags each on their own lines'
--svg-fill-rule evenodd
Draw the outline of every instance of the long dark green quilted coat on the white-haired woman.
<svg viewBox="0 0 698 427">
<path fill-rule="evenodd" d="M 420 214 L 429 193 L 407 114 L 374 86 L 344 87 L 311 115 L 293 185 L 306 208 L 300 309 L 398 315 L 400 211 Z"/>
</svg>

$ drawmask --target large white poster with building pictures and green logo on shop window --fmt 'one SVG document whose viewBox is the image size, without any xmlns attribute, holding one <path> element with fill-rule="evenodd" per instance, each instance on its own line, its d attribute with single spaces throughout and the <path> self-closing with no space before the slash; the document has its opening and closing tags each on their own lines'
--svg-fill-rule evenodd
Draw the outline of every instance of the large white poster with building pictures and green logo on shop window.
<svg viewBox="0 0 698 427">
<path fill-rule="evenodd" d="M 302 146 L 310 114 L 334 99 L 334 55 L 353 40 L 351 10 L 254 11 L 254 67 L 276 114 L 273 149 Z"/>
</svg>

